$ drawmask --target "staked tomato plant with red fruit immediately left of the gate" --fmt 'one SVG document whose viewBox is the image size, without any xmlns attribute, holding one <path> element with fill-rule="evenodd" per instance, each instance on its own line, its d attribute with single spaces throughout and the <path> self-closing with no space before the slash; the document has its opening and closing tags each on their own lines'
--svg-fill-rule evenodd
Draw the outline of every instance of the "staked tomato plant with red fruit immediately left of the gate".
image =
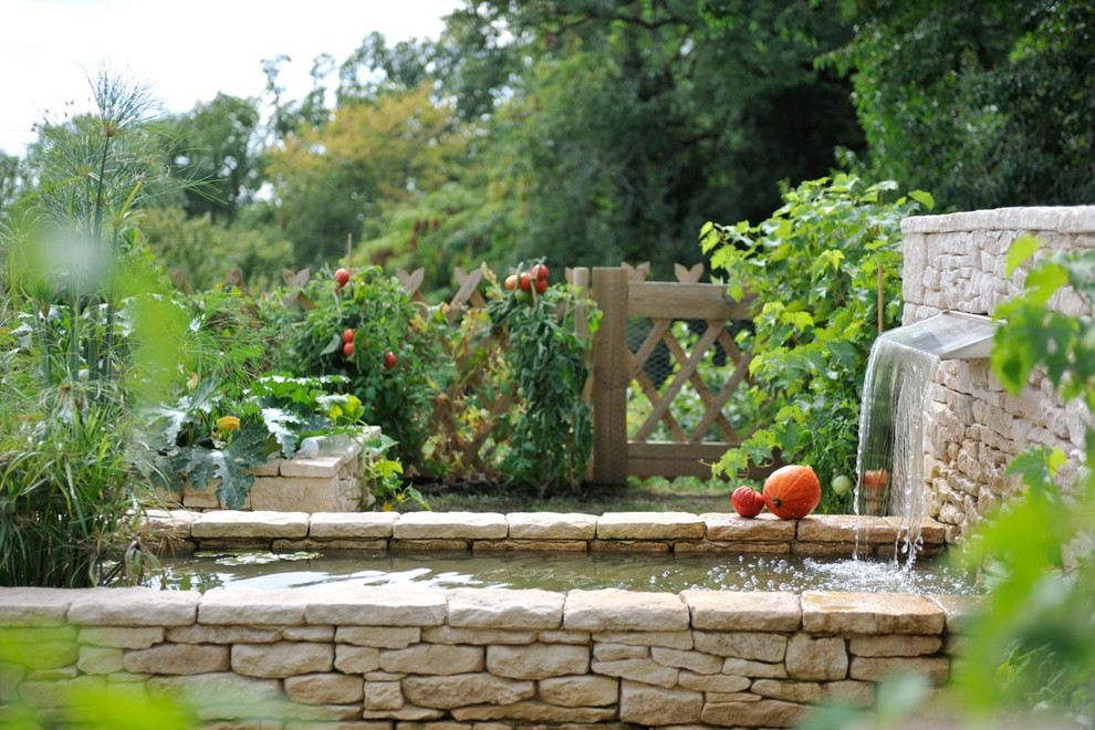
<svg viewBox="0 0 1095 730">
<path fill-rule="evenodd" d="M 528 271 L 522 262 L 519 271 Z M 582 398 L 590 343 L 575 328 L 581 312 L 596 313 L 572 286 L 542 294 L 494 286 L 488 312 L 504 327 L 503 351 L 519 400 L 503 425 L 509 451 L 502 471 L 509 484 L 574 490 L 593 448 L 590 406 Z M 526 300 L 526 301 L 523 301 Z"/>
</svg>

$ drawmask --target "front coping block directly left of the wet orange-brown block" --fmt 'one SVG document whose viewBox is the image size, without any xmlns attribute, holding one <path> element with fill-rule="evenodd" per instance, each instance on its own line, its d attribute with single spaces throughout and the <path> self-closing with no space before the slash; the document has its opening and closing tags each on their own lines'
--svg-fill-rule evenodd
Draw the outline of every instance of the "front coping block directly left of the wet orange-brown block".
<svg viewBox="0 0 1095 730">
<path fill-rule="evenodd" d="M 795 632 L 802 624 L 793 593 L 685 591 L 680 597 L 698 629 Z"/>
</svg>

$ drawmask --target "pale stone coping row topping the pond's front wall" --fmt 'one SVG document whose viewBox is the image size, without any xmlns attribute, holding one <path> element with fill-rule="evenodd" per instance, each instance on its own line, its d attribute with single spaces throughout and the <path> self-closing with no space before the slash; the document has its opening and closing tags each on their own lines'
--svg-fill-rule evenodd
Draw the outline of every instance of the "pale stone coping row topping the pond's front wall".
<svg viewBox="0 0 1095 730">
<path fill-rule="evenodd" d="M 452 626 L 581 632 L 960 632 L 977 599 L 807 591 L 316 586 L 309 591 L 0 587 L 0 626 Z"/>
</svg>

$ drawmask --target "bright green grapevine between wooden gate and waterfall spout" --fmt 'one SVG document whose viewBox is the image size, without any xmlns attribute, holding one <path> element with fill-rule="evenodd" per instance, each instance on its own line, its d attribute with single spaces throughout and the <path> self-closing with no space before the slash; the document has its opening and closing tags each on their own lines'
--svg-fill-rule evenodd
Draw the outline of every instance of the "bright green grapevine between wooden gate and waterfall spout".
<svg viewBox="0 0 1095 730">
<path fill-rule="evenodd" d="M 822 178 L 786 190 L 784 205 L 757 226 L 702 228 L 702 249 L 730 296 L 753 301 L 753 328 L 738 342 L 752 355 L 744 399 L 759 410 L 758 428 L 723 456 L 718 473 L 776 459 L 811 465 L 823 484 L 854 473 L 877 322 L 880 315 L 889 328 L 900 321 L 900 221 L 931 206 L 922 192 L 887 202 L 896 187 Z M 821 510 L 849 511 L 849 500 L 824 489 Z"/>
</svg>

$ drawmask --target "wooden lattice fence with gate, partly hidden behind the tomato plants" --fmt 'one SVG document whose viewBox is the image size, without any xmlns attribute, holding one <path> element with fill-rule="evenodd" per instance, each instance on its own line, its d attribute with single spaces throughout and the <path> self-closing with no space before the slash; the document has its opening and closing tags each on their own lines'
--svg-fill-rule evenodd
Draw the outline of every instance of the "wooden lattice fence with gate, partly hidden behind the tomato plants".
<svg viewBox="0 0 1095 730">
<path fill-rule="evenodd" d="M 480 291 L 486 271 L 486 264 L 455 270 L 457 291 L 442 307 L 452 327 L 486 307 Z M 700 283 L 702 264 L 691 269 L 678 264 L 677 281 L 647 281 L 648 273 L 648 264 L 566 269 L 567 282 L 588 291 L 602 312 L 585 389 L 594 426 L 587 481 L 623 483 L 628 476 L 709 478 L 711 465 L 757 426 L 732 423 L 727 415 L 727 404 L 749 386 L 751 355 L 739 350 L 731 328 L 749 320 L 750 302 L 731 301 L 721 284 Z M 396 275 L 408 296 L 425 302 L 423 269 L 399 270 Z M 307 278 L 306 270 L 283 272 L 290 288 L 283 300 L 286 306 L 312 307 L 303 293 Z M 242 280 L 242 272 L 232 270 L 226 283 L 239 285 Z M 176 283 L 185 284 L 185 278 Z M 584 316 L 576 319 L 584 324 Z M 491 371 L 491 357 L 502 356 L 501 343 L 494 343 L 496 352 L 486 356 L 481 351 L 473 356 L 471 350 L 453 343 L 449 354 L 460 377 L 436 398 L 437 434 L 430 456 L 455 468 L 459 478 L 490 480 L 497 477 L 490 459 L 494 428 L 517 394 Z M 664 361 L 664 378 L 651 367 L 656 353 Z M 724 364 L 713 366 L 715 361 Z M 687 418 L 678 407 L 685 401 Z M 465 417 L 468 408 L 476 409 L 473 418 Z"/>
</svg>

